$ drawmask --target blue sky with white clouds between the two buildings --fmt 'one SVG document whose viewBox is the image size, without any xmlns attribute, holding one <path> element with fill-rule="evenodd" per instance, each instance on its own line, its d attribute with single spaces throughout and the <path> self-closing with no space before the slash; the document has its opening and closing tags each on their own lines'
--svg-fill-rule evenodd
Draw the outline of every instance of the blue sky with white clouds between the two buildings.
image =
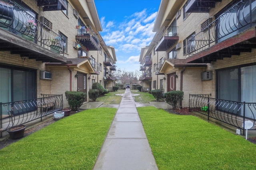
<svg viewBox="0 0 256 170">
<path fill-rule="evenodd" d="M 115 47 L 117 69 L 140 68 L 141 47 L 150 45 L 160 0 L 94 0 L 100 18 L 100 35 Z"/>
</svg>

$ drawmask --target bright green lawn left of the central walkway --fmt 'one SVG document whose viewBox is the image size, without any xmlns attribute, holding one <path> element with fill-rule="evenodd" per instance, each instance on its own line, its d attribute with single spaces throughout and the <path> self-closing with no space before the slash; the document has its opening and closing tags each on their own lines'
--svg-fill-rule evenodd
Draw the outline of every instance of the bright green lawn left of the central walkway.
<svg viewBox="0 0 256 170">
<path fill-rule="evenodd" d="M 0 169 L 92 169 L 115 108 L 97 108 L 64 117 L 0 150 Z"/>
</svg>

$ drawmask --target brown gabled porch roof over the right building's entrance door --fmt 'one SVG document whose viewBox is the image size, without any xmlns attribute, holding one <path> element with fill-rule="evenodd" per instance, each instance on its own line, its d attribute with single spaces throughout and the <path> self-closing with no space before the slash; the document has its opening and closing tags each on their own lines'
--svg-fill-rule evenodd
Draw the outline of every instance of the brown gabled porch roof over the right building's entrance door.
<svg viewBox="0 0 256 170">
<path fill-rule="evenodd" d="M 179 67 L 206 67 L 205 63 L 187 63 L 186 59 L 166 59 L 159 71 L 159 73 L 165 73 L 166 68 L 172 66 L 172 68 Z"/>
</svg>

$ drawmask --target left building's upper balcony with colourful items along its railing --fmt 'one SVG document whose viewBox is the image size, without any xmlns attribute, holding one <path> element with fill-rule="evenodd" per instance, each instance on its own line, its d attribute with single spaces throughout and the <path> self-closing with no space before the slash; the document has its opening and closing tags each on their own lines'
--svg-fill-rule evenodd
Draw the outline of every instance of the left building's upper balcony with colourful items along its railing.
<svg viewBox="0 0 256 170">
<path fill-rule="evenodd" d="M 82 45 L 84 45 L 84 47 L 86 47 L 88 51 L 100 50 L 100 41 L 90 25 L 77 25 L 76 29 L 76 40 L 79 41 Z"/>
</svg>

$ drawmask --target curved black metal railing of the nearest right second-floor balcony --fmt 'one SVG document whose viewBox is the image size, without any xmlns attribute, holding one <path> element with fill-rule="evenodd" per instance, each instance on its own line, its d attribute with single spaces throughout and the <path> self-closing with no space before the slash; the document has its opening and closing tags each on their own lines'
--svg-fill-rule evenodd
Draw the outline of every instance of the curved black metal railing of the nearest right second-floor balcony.
<svg viewBox="0 0 256 170">
<path fill-rule="evenodd" d="M 194 55 L 256 25 L 256 6 L 240 0 L 189 40 L 188 53 Z"/>
</svg>

